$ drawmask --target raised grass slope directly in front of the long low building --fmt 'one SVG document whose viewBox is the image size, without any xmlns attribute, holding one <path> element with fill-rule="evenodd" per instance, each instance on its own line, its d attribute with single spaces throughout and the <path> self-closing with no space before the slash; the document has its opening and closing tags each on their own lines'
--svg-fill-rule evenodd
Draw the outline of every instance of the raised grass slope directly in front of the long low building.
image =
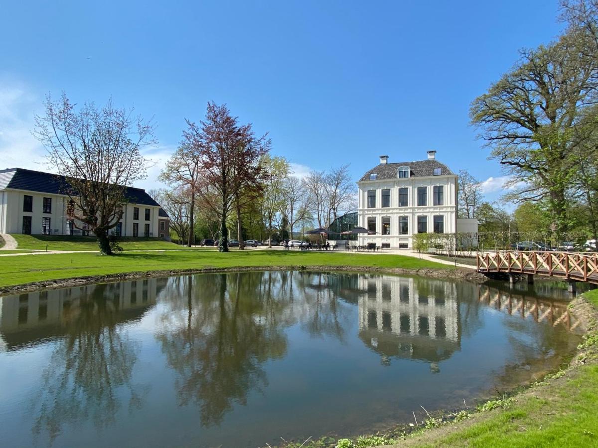
<svg viewBox="0 0 598 448">
<path fill-rule="evenodd" d="M 11 235 L 20 249 L 45 250 L 99 250 L 95 237 L 65 237 L 63 235 Z M 156 250 L 156 249 L 194 249 L 178 246 L 157 238 L 126 238 L 119 243 L 123 250 Z"/>
</svg>

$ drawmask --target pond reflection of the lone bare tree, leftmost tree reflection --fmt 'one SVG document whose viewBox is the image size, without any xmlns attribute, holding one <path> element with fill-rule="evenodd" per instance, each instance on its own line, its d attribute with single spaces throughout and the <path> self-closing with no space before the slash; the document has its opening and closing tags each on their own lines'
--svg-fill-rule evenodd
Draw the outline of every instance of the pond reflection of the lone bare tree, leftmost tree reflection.
<svg viewBox="0 0 598 448">
<path fill-rule="evenodd" d="M 147 388 L 131 378 L 139 345 L 118 325 L 130 317 L 120 300 L 126 285 L 130 283 L 100 284 L 65 302 L 65 334 L 54 343 L 31 403 L 36 436 L 47 433 L 53 441 L 64 425 L 84 421 L 105 428 L 114 424 L 122 403 L 128 401 L 129 409 L 141 407 Z"/>
</svg>

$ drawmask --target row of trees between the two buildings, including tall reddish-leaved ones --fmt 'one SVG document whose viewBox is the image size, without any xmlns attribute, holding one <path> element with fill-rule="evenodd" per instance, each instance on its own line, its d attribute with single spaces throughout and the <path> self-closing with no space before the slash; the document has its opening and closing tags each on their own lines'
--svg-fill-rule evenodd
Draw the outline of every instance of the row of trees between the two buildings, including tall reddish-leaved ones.
<svg viewBox="0 0 598 448">
<path fill-rule="evenodd" d="M 270 154 L 267 135 L 239 124 L 227 106 L 209 103 L 200 124 L 187 121 L 181 145 L 160 175 L 169 188 L 154 191 L 173 231 L 188 246 L 196 236 L 228 250 L 229 228 L 243 248 L 246 236 L 271 241 L 307 226 L 328 226 L 356 206 L 348 165 L 294 176 L 288 160 Z"/>
</svg>

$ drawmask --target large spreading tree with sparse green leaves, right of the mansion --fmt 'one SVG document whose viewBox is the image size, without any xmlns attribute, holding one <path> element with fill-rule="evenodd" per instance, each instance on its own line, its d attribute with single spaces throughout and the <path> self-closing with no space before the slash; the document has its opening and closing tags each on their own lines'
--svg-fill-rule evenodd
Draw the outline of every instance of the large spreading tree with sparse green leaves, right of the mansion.
<svg viewBox="0 0 598 448">
<path fill-rule="evenodd" d="M 518 186 L 509 197 L 544 201 L 561 234 L 571 224 L 575 134 L 593 107 L 598 86 L 598 59 L 591 57 L 590 45 L 594 31 L 571 24 L 556 41 L 522 50 L 515 66 L 471 106 L 471 121 L 492 150 L 490 157 Z M 580 35 L 583 44 L 577 42 Z"/>
</svg>

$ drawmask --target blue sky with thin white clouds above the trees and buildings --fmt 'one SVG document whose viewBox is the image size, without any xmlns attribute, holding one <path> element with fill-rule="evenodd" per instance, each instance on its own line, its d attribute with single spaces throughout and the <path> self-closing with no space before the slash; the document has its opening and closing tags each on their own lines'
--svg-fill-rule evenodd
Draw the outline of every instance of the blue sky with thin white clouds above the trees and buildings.
<svg viewBox="0 0 598 448">
<path fill-rule="evenodd" d="M 466 168 L 500 195 L 502 173 L 469 126 L 471 101 L 562 29 L 557 0 L 501 2 L 5 2 L 0 168 L 39 165 L 30 136 L 48 92 L 154 116 L 155 186 L 185 118 L 227 103 L 298 174 L 423 159 Z M 491 178 L 491 180 L 488 180 Z"/>
</svg>

